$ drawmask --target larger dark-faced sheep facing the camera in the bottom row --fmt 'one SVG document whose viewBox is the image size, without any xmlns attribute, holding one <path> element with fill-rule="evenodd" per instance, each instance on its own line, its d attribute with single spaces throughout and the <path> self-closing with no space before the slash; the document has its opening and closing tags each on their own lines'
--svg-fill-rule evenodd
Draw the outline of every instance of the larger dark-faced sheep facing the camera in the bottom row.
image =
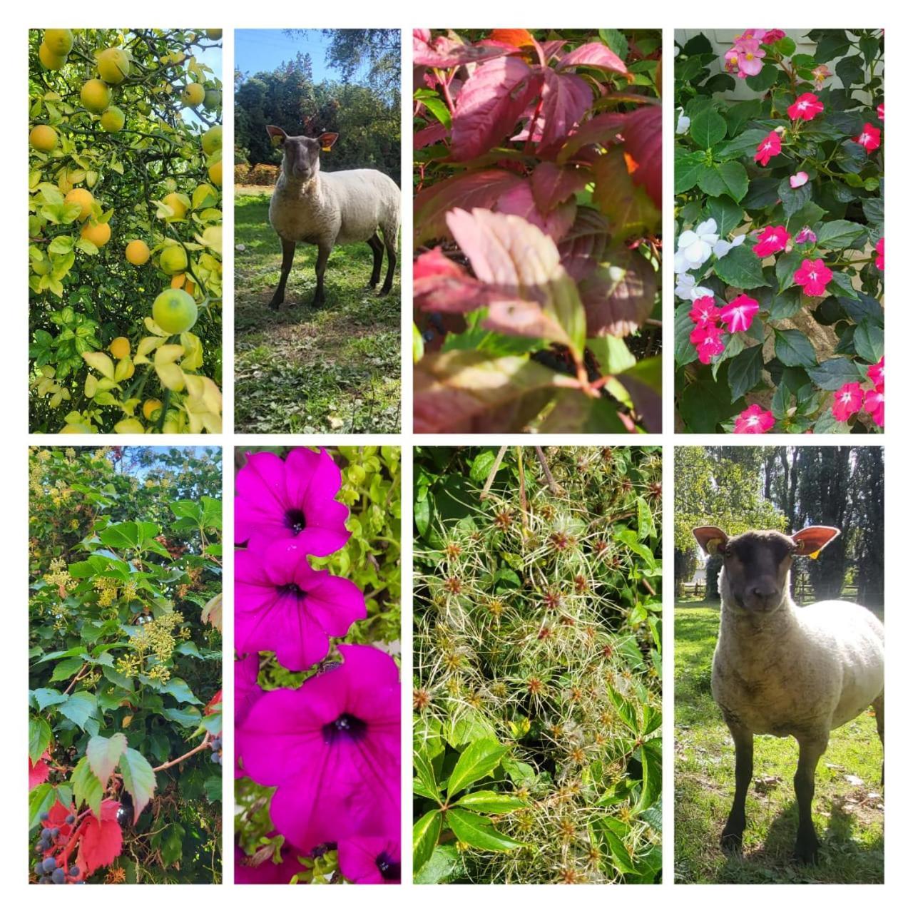
<svg viewBox="0 0 913 913">
<path fill-rule="evenodd" d="M 721 845 L 728 853 L 741 852 L 754 735 L 792 736 L 799 743 L 793 856 L 814 863 L 814 771 L 830 731 L 871 706 L 884 753 L 884 627 L 855 603 L 793 603 L 793 556 L 817 557 L 840 534 L 834 527 L 810 526 L 792 536 L 752 531 L 732 539 L 715 526 L 693 533 L 705 553 L 723 558 L 711 690 L 735 742 L 736 789 Z"/>
</svg>

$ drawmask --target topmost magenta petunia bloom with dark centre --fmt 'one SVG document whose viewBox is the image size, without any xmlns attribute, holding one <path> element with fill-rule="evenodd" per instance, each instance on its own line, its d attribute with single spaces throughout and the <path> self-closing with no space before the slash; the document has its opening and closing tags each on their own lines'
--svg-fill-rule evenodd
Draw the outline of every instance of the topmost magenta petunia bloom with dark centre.
<svg viewBox="0 0 913 913">
<path fill-rule="evenodd" d="M 247 455 L 237 474 L 235 541 L 294 539 L 309 555 L 332 554 L 349 540 L 349 509 L 334 500 L 339 467 L 320 448 L 296 447 L 284 460 L 263 452 Z"/>
</svg>

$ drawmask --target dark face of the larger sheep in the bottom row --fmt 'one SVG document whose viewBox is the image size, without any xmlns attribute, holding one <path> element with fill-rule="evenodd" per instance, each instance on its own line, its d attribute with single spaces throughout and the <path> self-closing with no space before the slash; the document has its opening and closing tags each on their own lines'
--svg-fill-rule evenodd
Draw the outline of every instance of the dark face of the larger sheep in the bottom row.
<svg viewBox="0 0 913 913">
<path fill-rule="evenodd" d="M 719 593 L 746 612 L 772 612 L 789 595 L 795 542 L 782 532 L 744 532 L 719 546 Z"/>
</svg>

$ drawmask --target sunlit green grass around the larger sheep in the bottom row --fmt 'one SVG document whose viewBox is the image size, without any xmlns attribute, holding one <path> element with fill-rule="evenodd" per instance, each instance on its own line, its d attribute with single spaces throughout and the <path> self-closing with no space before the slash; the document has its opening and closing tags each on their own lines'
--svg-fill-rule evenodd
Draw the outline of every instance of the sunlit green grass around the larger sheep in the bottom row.
<svg viewBox="0 0 913 913">
<path fill-rule="evenodd" d="M 799 755 L 794 739 L 755 736 L 743 856 L 731 858 L 720 850 L 719 834 L 735 785 L 735 754 L 729 729 L 710 694 L 719 607 L 691 607 L 694 604 L 678 605 L 675 615 L 676 881 L 883 882 L 882 752 L 871 712 L 835 729 L 818 764 L 813 815 L 822 841 L 819 865 L 796 866 L 790 861 L 798 823 L 792 792 Z M 847 776 L 863 783 L 853 785 Z"/>
</svg>

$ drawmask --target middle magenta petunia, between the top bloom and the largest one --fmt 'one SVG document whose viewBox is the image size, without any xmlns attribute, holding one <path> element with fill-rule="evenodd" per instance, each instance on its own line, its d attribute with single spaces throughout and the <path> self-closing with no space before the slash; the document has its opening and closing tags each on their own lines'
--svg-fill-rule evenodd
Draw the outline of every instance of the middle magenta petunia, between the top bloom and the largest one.
<svg viewBox="0 0 913 913">
<path fill-rule="evenodd" d="M 362 591 L 329 571 L 315 571 L 299 540 L 235 554 L 235 648 L 274 650 L 287 669 L 319 663 L 331 637 L 344 637 L 367 614 Z"/>
</svg>

